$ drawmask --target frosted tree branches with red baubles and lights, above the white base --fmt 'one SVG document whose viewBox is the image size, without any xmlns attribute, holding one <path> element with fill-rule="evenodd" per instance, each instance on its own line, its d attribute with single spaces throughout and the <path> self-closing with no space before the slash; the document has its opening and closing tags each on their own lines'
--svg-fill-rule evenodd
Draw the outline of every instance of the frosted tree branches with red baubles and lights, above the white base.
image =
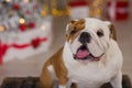
<svg viewBox="0 0 132 88">
<path fill-rule="evenodd" d="M 40 25 L 47 14 L 44 1 L 0 0 L 0 31 L 21 32 Z"/>
</svg>

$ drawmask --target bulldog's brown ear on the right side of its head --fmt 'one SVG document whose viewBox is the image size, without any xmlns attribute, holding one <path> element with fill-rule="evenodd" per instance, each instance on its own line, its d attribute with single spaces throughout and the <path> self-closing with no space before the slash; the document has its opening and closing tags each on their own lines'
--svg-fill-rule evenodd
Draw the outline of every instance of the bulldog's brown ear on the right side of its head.
<svg viewBox="0 0 132 88">
<path fill-rule="evenodd" d="M 106 22 L 109 30 L 110 30 L 110 37 L 113 38 L 114 41 L 117 41 L 117 33 L 116 33 L 116 28 L 111 22 Z"/>
</svg>

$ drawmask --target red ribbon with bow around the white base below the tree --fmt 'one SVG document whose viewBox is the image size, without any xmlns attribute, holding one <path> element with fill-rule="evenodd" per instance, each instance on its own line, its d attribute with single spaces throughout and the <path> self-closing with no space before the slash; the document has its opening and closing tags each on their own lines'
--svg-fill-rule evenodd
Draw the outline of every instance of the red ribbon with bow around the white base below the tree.
<svg viewBox="0 0 132 88">
<path fill-rule="evenodd" d="M 47 41 L 47 37 L 42 37 L 42 38 L 36 37 L 36 38 L 32 40 L 31 43 L 26 43 L 26 44 L 15 44 L 15 43 L 13 43 L 13 44 L 10 44 L 10 45 L 4 44 L 0 41 L 0 64 L 2 64 L 3 56 L 10 47 L 20 48 L 20 50 L 26 48 L 29 46 L 37 47 L 41 44 L 41 42 L 46 42 L 46 41 Z"/>
</svg>

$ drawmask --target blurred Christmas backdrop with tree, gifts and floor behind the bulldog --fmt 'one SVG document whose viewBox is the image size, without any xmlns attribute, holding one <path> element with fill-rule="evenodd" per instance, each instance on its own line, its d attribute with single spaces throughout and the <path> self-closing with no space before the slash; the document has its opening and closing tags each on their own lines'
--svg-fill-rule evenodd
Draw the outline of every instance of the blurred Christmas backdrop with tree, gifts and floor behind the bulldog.
<svg viewBox="0 0 132 88">
<path fill-rule="evenodd" d="M 6 77 L 38 77 L 65 43 L 72 19 L 111 21 L 132 79 L 132 0 L 0 0 L 0 84 Z"/>
</svg>

